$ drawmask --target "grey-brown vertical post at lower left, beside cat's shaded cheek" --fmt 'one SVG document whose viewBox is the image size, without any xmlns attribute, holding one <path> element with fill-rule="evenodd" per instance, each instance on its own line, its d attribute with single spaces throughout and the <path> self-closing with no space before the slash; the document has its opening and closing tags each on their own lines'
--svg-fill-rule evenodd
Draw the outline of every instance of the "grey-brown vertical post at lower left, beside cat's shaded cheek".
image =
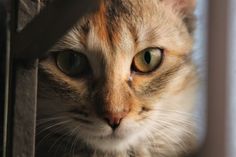
<svg viewBox="0 0 236 157">
<path fill-rule="evenodd" d="M 38 63 L 14 63 L 12 157 L 34 157 Z"/>
</svg>

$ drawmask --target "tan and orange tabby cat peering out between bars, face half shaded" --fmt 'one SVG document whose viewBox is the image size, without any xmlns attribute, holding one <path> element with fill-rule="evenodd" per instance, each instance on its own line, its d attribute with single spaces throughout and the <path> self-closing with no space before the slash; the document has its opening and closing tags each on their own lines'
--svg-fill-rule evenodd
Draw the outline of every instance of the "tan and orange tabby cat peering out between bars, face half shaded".
<svg viewBox="0 0 236 157">
<path fill-rule="evenodd" d="M 195 0 L 103 0 L 39 61 L 37 157 L 194 152 Z"/>
</svg>

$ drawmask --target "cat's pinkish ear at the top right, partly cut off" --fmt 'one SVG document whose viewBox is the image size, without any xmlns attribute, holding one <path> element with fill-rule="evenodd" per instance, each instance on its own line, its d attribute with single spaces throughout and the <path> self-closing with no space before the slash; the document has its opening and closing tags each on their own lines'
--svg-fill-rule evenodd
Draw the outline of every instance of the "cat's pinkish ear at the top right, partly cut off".
<svg viewBox="0 0 236 157">
<path fill-rule="evenodd" d="M 183 21 L 186 23 L 186 26 L 190 33 L 193 33 L 195 30 L 195 15 L 194 10 L 196 7 L 196 0 L 161 0 L 166 5 L 169 5 L 178 12 Z"/>
</svg>

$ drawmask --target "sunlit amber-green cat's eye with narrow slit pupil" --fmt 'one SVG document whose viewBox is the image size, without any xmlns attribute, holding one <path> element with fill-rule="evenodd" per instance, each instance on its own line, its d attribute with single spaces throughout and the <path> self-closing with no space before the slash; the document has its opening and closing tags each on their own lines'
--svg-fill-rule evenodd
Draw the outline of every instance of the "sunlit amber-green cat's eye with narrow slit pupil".
<svg viewBox="0 0 236 157">
<path fill-rule="evenodd" d="M 132 70 L 148 73 L 158 68 L 163 60 L 163 50 L 160 48 L 148 48 L 134 56 Z"/>
</svg>

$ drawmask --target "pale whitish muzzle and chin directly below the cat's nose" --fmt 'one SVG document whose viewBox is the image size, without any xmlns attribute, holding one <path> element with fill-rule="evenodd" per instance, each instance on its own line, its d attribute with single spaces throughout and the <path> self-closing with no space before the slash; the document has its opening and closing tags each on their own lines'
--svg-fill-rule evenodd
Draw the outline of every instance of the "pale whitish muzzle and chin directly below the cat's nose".
<svg viewBox="0 0 236 157">
<path fill-rule="evenodd" d="M 71 118 L 76 121 L 70 130 L 78 126 L 78 132 L 75 137 L 91 145 L 92 147 L 102 150 L 122 149 L 125 145 L 136 143 L 140 137 L 140 125 L 130 116 L 124 117 L 119 124 L 111 125 L 105 119 L 96 116 L 85 115 L 83 112 L 73 110 Z M 113 121 L 114 122 L 114 121 Z M 137 132 L 137 130 L 139 130 Z M 112 148 L 110 148 L 112 147 Z"/>
</svg>

